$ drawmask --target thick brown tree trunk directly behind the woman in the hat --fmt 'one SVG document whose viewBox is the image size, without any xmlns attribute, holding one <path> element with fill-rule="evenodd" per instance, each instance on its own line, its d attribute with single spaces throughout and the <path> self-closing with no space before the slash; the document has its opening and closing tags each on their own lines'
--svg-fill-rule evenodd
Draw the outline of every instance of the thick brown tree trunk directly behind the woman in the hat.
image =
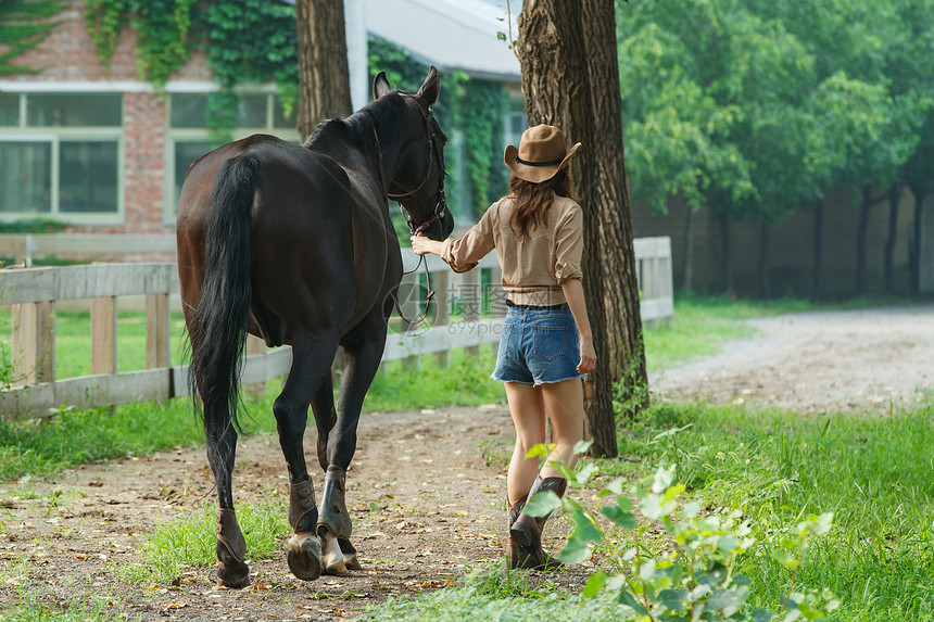
<svg viewBox="0 0 934 622">
<path fill-rule="evenodd" d="M 517 50 L 522 66 L 522 93 L 526 98 L 526 115 L 530 125 L 547 123 L 556 125 L 565 132 L 569 142 L 583 143 L 578 157 L 572 165 L 576 179 L 576 191 L 584 208 L 584 292 L 588 303 L 588 314 L 594 333 L 594 348 L 597 356 L 597 368 L 588 380 L 586 417 L 590 434 L 593 436 L 593 452 L 596 455 L 616 456 L 616 423 L 613 411 L 613 381 L 622 370 L 614 369 L 610 359 L 609 340 L 627 339 L 629 327 L 639 327 L 640 319 L 629 317 L 619 320 L 615 314 L 632 313 L 629 308 L 610 310 L 614 319 L 607 321 L 607 296 L 605 290 L 614 287 L 629 288 L 626 299 L 636 300 L 638 290 L 633 290 L 635 270 L 622 268 L 621 274 L 609 274 L 604 266 L 634 266 L 635 259 L 631 254 L 632 241 L 616 239 L 615 244 L 603 245 L 604 232 L 601 221 L 606 219 L 614 224 L 628 223 L 627 191 L 624 186 L 624 165 L 622 156 L 622 131 L 620 128 L 620 110 L 618 99 L 618 65 L 615 55 L 602 54 L 599 59 L 586 60 L 590 49 L 585 36 L 593 36 L 593 46 L 615 45 L 613 30 L 604 27 L 584 31 L 585 25 L 592 25 L 593 20 L 613 20 L 611 0 L 593 0 L 585 7 L 556 0 L 527 0 L 519 15 L 519 38 Z M 584 9 L 583 11 L 581 9 Z M 583 14 L 588 17 L 584 18 Z M 608 40 L 607 40 L 608 38 Z M 594 72 L 594 75 L 591 75 Z M 593 103 L 591 82 L 604 79 L 614 91 L 606 97 L 599 109 Z M 597 92 L 606 93 L 607 85 L 601 85 Z M 601 117 L 596 114 L 599 111 Z M 604 118 L 614 115 L 617 118 Z M 617 128 L 617 129 L 614 129 Z M 605 136 L 597 138 L 597 135 Z M 609 163 L 598 163 L 598 158 L 607 156 L 608 150 L 615 154 Z M 607 166 L 608 168 L 602 168 Z M 601 194 L 601 188 L 607 186 L 597 183 L 598 176 L 604 173 L 606 183 L 618 185 L 608 196 Z M 610 212 L 616 211 L 617 214 Z M 622 225 L 607 226 L 610 239 L 626 236 Z M 630 254 L 627 254 L 627 249 Z M 619 256 L 607 259 L 608 254 Z M 619 268 L 617 268 L 619 269 Z M 619 303 L 617 303 L 619 304 Z M 622 303 L 627 304 L 627 303 Z M 636 312 L 638 314 L 638 307 Z M 608 327 L 627 323 L 627 334 L 608 333 Z M 639 353 L 641 357 L 641 334 L 635 343 L 623 343 L 629 356 Z M 641 358 L 639 359 L 641 360 Z M 639 365 L 639 364 L 636 364 Z M 644 375 L 644 371 L 642 372 Z"/>
</svg>

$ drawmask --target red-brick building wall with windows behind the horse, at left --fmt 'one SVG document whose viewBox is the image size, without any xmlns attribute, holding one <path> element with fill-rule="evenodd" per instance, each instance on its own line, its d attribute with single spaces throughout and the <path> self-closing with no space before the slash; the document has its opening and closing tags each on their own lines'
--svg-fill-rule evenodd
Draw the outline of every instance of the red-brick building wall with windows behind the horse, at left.
<svg viewBox="0 0 934 622">
<path fill-rule="evenodd" d="M 72 0 L 58 25 L 16 60 L 38 73 L 0 79 L 0 218 L 48 216 L 94 233 L 169 233 L 181 177 L 209 151 L 203 53 L 159 93 L 137 74 L 136 31 L 125 29 L 104 71 Z M 238 91 L 235 138 L 256 131 L 298 140 L 274 85 Z"/>
</svg>

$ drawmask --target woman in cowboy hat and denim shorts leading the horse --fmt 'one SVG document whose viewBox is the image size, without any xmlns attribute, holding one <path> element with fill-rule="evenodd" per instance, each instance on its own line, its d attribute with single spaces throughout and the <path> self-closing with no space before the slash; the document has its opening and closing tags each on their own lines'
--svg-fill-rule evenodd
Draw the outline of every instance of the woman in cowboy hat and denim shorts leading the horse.
<svg viewBox="0 0 934 622">
<path fill-rule="evenodd" d="M 571 466 L 583 436 L 581 377 L 596 363 L 581 285 L 582 214 L 570 199 L 570 150 L 560 130 L 529 128 L 519 148 L 506 148 L 512 192 L 490 206 L 459 240 L 412 237 L 416 254 L 440 255 L 457 272 L 467 271 L 496 249 L 508 312 L 491 378 L 505 383 L 516 426 L 516 446 L 506 480 L 509 504 L 509 563 L 513 568 L 558 566 L 542 550 L 547 517 L 521 513 L 535 493 L 564 495 L 567 482 L 552 462 Z M 545 442 L 545 414 L 555 448 L 541 470 L 529 449 Z"/>
</svg>

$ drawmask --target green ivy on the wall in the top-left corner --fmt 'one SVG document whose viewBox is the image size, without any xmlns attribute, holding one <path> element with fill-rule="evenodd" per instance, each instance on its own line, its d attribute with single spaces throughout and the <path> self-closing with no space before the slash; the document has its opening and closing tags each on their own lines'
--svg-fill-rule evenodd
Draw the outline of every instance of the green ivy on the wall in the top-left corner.
<svg viewBox="0 0 934 622">
<path fill-rule="evenodd" d="M 46 38 L 55 26 L 51 18 L 64 4 L 65 0 L 0 1 L 0 76 L 39 71 L 12 61 Z"/>
</svg>

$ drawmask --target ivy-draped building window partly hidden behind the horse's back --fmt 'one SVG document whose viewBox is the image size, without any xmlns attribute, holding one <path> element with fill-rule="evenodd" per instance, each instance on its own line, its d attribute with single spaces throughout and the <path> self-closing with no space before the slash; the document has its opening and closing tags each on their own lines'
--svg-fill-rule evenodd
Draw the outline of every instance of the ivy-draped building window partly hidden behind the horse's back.
<svg viewBox="0 0 934 622">
<path fill-rule="evenodd" d="M 0 103 L 2 105 L 2 103 Z M 174 220 L 181 195 L 185 172 L 192 162 L 212 150 L 207 129 L 207 93 L 172 93 L 168 97 L 168 127 L 165 141 L 165 218 Z M 295 129 L 298 111 L 286 115 L 275 93 L 237 94 L 237 127 L 234 140 L 253 134 L 270 134 L 282 140 L 301 143 Z M 2 114 L 2 113 L 0 113 Z"/>
</svg>

